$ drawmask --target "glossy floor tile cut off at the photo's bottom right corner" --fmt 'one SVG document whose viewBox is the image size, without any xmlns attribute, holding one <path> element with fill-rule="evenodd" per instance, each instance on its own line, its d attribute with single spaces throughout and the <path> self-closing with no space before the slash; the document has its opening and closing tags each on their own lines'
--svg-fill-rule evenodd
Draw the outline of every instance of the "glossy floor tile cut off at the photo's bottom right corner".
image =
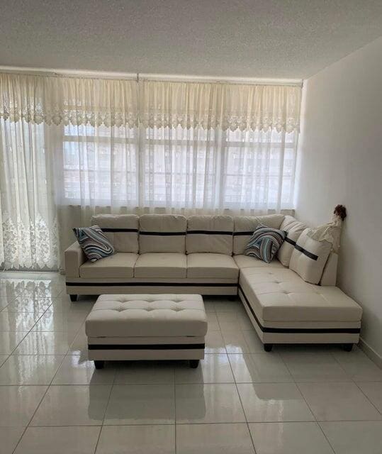
<svg viewBox="0 0 382 454">
<path fill-rule="evenodd" d="M 340 421 L 320 426 L 336 454 L 382 452 L 382 421 Z"/>
</svg>

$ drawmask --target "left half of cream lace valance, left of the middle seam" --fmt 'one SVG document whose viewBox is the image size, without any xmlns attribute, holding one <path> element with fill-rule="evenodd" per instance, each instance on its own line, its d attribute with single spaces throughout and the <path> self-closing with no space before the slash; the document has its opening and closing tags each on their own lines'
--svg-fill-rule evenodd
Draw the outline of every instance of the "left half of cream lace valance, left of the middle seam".
<svg viewBox="0 0 382 454">
<path fill-rule="evenodd" d="M 137 126 L 137 82 L 0 74 L 0 118 L 40 124 Z"/>
</svg>

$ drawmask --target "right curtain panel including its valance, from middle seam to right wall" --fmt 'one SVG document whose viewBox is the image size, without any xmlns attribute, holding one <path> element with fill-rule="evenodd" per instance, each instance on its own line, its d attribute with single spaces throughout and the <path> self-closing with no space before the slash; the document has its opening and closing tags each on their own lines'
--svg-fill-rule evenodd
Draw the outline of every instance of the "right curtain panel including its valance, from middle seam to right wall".
<svg viewBox="0 0 382 454">
<path fill-rule="evenodd" d="M 142 82 L 140 204 L 291 209 L 299 87 Z"/>
</svg>

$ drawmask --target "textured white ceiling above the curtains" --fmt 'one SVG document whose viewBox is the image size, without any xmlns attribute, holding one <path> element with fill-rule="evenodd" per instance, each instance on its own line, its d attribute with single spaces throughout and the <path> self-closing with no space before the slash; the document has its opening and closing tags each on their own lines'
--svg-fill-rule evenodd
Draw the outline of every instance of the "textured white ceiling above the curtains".
<svg viewBox="0 0 382 454">
<path fill-rule="evenodd" d="M 305 78 L 380 35 L 381 0 L 0 0 L 0 65 Z"/>
</svg>

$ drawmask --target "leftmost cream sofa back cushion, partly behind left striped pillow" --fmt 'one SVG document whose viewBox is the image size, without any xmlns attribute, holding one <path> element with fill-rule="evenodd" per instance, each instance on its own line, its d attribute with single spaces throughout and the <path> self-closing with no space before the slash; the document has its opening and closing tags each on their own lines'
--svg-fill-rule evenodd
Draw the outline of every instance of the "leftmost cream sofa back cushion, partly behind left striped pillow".
<svg viewBox="0 0 382 454">
<path fill-rule="evenodd" d="M 138 252 L 139 217 L 135 214 L 97 214 L 91 225 L 101 227 L 117 253 Z"/>
</svg>

